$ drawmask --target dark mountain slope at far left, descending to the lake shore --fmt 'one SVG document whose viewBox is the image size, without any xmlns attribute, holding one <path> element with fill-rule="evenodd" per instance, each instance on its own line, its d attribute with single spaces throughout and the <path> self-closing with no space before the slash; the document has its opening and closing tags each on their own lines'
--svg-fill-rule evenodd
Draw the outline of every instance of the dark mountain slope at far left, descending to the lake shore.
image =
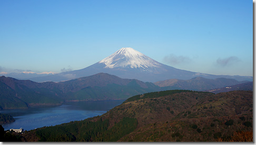
<svg viewBox="0 0 256 145">
<path fill-rule="evenodd" d="M 47 84 L 51 84 L 48 82 Z M 63 99 L 58 91 L 43 87 L 43 84 L 31 80 L 17 80 L 10 77 L 0 77 L 0 84 L 7 89 L 1 91 L 1 106 L 3 109 L 27 108 L 37 105 L 60 105 Z M 15 95 L 14 95 L 15 94 Z"/>
</svg>

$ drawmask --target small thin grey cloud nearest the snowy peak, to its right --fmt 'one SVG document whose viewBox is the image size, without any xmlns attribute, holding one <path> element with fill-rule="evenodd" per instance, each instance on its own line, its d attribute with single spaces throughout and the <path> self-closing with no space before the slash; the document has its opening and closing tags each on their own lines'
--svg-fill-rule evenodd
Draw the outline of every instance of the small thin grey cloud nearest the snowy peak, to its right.
<svg viewBox="0 0 256 145">
<path fill-rule="evenodd" d="M 183 63 L 189 63 L 191 61 L 191 58 L 170 54 L 169 56 L 164 57 L 164 61 L 170 65 L 177 65 L 177 64 L 183 64 Z"/>
</svg>

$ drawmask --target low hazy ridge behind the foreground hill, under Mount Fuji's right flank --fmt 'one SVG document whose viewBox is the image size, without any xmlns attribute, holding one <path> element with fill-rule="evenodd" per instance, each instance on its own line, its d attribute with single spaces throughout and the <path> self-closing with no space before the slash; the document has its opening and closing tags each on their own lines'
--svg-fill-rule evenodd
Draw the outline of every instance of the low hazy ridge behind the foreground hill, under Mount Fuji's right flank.
<svg viewBox="0 0 256 145">
<path fill-rule="evenodd" d="M 164 81 L 157 81 L 154 82 L 154 84 L 159 87 L 168 87 L 169 89 L 189 89 L 203 91 L 242 84 L 243 82 L 244 81 L 237 81 L 227 78 L 206 79 L 203 77 L 196 77 L 190 80 L 169 79 Z"/>
</svg>

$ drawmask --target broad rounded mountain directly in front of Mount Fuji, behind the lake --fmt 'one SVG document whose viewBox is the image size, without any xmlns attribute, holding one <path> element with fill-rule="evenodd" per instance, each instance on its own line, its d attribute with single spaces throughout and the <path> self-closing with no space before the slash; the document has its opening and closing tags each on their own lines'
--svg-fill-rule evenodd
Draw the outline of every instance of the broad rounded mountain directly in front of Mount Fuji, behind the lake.
<svg viewBox="0 0 256 145">
<path fill-rule="evenodd" d="M 150 82 L 122 79 L 99 73 L 89 77 L 58 82 L 58 89 L 66 95 L 66 100 L 113 100 L 127 99 L 137 94 L 161 90 Z"/>
</svg>

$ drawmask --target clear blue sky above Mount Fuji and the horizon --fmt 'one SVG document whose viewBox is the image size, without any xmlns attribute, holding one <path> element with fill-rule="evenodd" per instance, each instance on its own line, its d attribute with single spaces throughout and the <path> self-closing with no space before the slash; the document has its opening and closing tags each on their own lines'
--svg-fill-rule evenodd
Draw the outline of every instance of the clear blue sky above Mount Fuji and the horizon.
<svg viewBox="0 0 256 145">
<path fill-rule="evenodd" d="M 252 1 L 0 1 L 0 72 L 77 70 L 122 47 L 214 75 L 253 76 Z"/>
</svg>

